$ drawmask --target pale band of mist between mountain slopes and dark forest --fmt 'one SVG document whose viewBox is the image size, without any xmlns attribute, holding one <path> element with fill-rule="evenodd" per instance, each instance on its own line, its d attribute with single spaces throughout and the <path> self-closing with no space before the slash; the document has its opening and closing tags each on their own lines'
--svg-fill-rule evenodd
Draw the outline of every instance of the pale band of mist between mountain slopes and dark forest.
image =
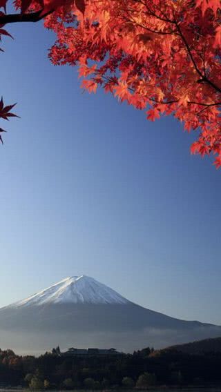
<svg viewBox="0 0 221 392">
<path fill-rule="evenodd" d="M 133 351 L 144 349 L 147 346 L 155 349 L 162 349 L 175 343 L 186 343 L 193 340 L 200 340 L 207 333 L 185 333 L 185 331 L 157 331 L 144 330 L 128 331 L 127 333 L 111 333 L 101 331 L 100 333 L 33 333 L 21 331 L 15 333 L 12 331 L 0 331 L 0 347 L 1 349 L 12 349 L 15 353 L 24 355 L 40 355 L 46 351 L 51 351 L 52 347 L 60 346 L 61 351 L 66 351 L 69 347 L 110 349 L 114 347 L 117 351 L 124 353 L 133 353 Z M 220 335 L 220 331 L 215 333 L 211 331 L 211 337 Z"/>
</svg>

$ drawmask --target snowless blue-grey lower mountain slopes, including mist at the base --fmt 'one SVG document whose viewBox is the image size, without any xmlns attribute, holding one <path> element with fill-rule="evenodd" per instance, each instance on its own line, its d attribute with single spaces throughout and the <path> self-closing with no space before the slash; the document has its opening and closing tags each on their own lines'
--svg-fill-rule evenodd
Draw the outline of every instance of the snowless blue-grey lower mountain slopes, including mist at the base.
<svg viewBox="0 0 221 392">
<path fill-rule="evenodd" d="M 128 304 L 54 304 L 0 311 L 0 347 L 39 355 L 60 346 L 97 347 L 132 353 L 146 346 L 162 349 L 206 337 L 221 327 L 177 320 Z"/>
</svg>

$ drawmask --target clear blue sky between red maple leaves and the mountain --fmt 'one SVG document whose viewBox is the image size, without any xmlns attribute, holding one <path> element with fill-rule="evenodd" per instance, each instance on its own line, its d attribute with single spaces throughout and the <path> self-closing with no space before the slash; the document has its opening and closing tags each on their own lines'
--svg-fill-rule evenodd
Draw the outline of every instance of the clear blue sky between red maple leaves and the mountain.
<svg viewBox="0 0 221 392">
<path fill-rule="evenodd" d="M 21 119 L 0 146 L 0 305 L 70 275 L 129 300 L 221 324 L 221 171 L 189 154 L 195 135 L 47 59 L 53 35 L 8 26 L 1 93 Z"/>
</svg>

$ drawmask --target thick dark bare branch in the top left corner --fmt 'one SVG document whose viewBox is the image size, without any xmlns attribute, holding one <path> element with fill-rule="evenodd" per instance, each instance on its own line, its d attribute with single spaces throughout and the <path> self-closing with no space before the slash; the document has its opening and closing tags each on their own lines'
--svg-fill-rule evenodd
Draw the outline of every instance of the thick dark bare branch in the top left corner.
<svg viewBox="0 0 221 392">
<path fill-rule="evenodd" d="M 0 25 L 6 25 L 7 23 L 21 23 L 21 22 L 38 22 L 44 19 L 49 14 L 54 12 L 50 10 L 46 14 L 41 14 L 43 10 L 37 12 L 30 12 L 29 14 L 6 14 L 0 16 Z"/>
</svg>

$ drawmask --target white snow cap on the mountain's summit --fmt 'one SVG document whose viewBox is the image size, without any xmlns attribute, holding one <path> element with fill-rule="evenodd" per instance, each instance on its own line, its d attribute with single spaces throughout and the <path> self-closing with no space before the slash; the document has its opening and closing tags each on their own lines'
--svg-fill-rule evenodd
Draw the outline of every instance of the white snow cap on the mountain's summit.
<svg viewBox="0 0 221 392">
<path fill-rule="evenodd" d="M 129 301 L 112 288 L 85 275 L 67 277 L 61 282 L 10 305 L 40 306 L 46 304 L 127 304 Z"/>
</svg>

